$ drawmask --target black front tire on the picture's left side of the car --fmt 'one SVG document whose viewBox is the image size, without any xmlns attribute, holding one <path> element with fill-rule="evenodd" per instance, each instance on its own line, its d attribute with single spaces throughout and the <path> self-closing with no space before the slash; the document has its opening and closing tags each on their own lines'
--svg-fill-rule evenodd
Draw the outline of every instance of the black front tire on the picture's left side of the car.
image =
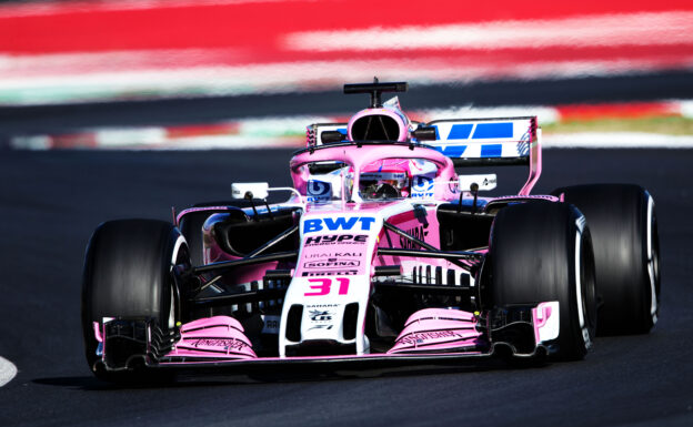
<svg viewBox="0 0 693 427">
<path fill-rule="evenodd" d="M 82 328 L 87 362 L 97 377 L 131 382 L 135 376 L 130 370 L 99 368 L 94 322 L 102 331 L 104 317 L 149 319 L 161 332 L 162 348 L 171 344 L 181 313 L 171 271 L 181 264 L 190 266 L 190 256 L 184 238 L 170 223 L 121 220 L 103 223 L 94 231 L 84 262 Z M 128 360 L 140 356 L 129 354 L 131 349 L 124 344 L 121 348 L 113 348 L 117 344 L 109 346 Z"/>
</svg>

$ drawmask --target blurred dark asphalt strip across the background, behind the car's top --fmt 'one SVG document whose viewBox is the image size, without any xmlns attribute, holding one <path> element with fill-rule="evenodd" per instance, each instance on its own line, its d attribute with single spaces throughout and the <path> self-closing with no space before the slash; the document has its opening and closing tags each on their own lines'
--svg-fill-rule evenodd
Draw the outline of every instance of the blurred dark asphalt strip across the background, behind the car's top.
<svg viewBox="0 0 693 427">
<path fill-rule="evenodd" d="M 400 98 L 405 110 L 693 99 L 693 72 L 413 85 Z M 272 115 L 344 114 L 366 105 L 366 95 L 345 96 L 341 88 L 335 88 L 331 92 L 0 106 L 0 145 L 18 134 L 69 133 L 100 126 L 208 124 Z"/>
</svg>

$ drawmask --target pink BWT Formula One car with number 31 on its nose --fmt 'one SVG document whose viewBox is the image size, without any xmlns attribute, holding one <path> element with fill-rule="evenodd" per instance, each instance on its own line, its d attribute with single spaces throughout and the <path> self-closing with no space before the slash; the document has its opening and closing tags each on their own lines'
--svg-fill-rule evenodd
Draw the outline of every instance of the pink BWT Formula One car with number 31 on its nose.
<svg viewBox="0 0 693 427">
<path fill-rule="evenodd" d="M 659 311 L 654 202 L 637 185 L 531 195 L 535 118 L 415 123 L 382 92 L 349 123 L 313 124 L 293 187 L 232 185 L 173 223 L 100 225 L 82 322 L 100 378 L 173 368 L 581 359 L 595 332 L 646 333 Z M 483 197 L 525 164 L 515 195 Z M 270 204 L 270 192 L 287 202 Z M 599 324 L 597 324 L 599 312 Z"/>
</svg>

